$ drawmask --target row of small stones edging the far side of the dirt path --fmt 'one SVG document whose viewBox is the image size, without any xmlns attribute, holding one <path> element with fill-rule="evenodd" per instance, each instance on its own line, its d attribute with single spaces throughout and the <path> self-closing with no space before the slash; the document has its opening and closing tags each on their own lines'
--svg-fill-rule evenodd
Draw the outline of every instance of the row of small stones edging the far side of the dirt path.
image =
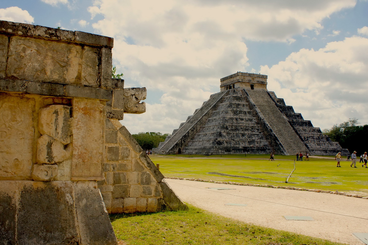
<svg viewBox="0 0 368 245">
<path fill-rule="evenodd" d="M 354 195 L 347 192 L 340 192 L 340 191 L 323 191 L 320 189 L 306 189 L 306 188 L 298 188 L 298 187 L 291 187 L 291 186 L 274 186 L 274 185 L 261 185 L 261 184 L 251 184 L 251 183 L 237 183 L 232 181 L 214 181 L 214 180 L 202 180 L 202 179 L 189 179 L 189 178 L 178 178 L 178 177 L 165 177 L 165 179 L 174 179 L 174 180 L 190 180 L 190 181 L 201 181 L 201 182 L 209 182 L 209 183 L 216 183 L 216 184 L 230 184 L 230 185 L 248 185 L 248 186 L 258 186 L 258 187 L 268 187 L 268 188 L 281 188 L 287 190 L 297 190 L 297 191 L 313 191 L 313 192 L 321 192 L 321 193 L 329 193 L 329 194 L 336 194 L 336 195 L 344 195 L 347 197 L 357 197 L 362 199 L 368 199 L 362 195 Z M 368 195 L 368 193 L 367 193 Z"/>
</svg>

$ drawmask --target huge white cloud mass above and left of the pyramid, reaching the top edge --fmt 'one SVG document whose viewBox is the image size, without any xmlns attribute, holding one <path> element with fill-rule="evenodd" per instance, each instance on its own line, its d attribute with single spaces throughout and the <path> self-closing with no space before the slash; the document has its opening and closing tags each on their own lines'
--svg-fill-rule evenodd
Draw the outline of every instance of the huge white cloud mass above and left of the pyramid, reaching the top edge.
<svg viewBox="0 0 368 245">
<path fill-rule="evenodd" d="M 125 87 L 145 86 L 151 94 L 163 94 L 159 103 L 147 104 L 146 113 L 125 115 L 123 124 L 132 133 L 171 133 L 219 91 L 220 78 L 247 71 L 244 40 L 290 44 L 294 36 L 318 32 L 323 19 L 355 4 L 356 0 L 99 0 L 88 11 L 91 18 L 104 17 L 93 28 L 114 37 L 113 62 L 124 73 Z"/>
</svg>

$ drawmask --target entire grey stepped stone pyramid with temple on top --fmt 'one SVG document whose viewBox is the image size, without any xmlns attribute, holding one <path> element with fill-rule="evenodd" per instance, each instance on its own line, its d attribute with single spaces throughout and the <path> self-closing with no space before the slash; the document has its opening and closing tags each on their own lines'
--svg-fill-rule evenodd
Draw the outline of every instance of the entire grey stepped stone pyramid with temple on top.
<svg viewBox="0 0 368 245">
<path fill-rule="evenodd" d="M 349 154 L 267 90 L 267 76 L 237 72 L 161 142 L 157 154 Z"/>
</svg>

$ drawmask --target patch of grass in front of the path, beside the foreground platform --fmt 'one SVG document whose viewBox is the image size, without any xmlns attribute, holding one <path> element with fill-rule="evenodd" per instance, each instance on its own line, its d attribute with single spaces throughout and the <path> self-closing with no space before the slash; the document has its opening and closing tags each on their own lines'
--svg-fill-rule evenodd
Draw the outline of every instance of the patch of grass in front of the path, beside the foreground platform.
<svg viewBox="0 0 368 245">
<path fill-rule="evenodd" d="M 116 237 L 128 245 L 340 244 L 189 208 L 188 211 L 110 215 L 110 219 Z"/>
</svg>

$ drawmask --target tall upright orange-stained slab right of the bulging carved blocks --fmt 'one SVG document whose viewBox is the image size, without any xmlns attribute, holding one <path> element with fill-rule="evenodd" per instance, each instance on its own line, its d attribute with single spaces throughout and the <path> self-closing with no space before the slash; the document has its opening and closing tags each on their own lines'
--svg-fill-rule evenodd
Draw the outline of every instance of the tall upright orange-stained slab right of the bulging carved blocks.
<svg viewBox="0 0 368 245">
<path fill-rule="evenodd" d="M 102 180 L 103 104 L 74 98 L 72 180 Z"/>
</svg>

